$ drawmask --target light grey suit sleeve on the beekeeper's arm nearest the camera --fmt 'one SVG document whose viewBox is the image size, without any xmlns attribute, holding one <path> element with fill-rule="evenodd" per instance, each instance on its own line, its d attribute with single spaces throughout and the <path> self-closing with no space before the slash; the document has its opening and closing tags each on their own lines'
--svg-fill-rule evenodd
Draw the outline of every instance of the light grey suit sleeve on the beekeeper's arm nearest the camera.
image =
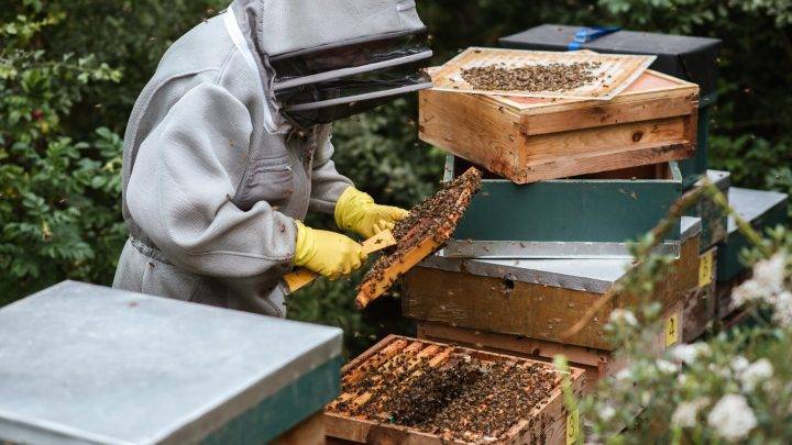
<svg viewBox="0 0 792 445">
<path fill-rule="evenodd" d="M 187 92 L 142 143 L 128 189 L 135 222 L 176 266 L 215 277 L 274 277 L 292 267 L 296 226 L 260 201 L 233 202 L 252 132 L 227 90 Z"/>
</svg>

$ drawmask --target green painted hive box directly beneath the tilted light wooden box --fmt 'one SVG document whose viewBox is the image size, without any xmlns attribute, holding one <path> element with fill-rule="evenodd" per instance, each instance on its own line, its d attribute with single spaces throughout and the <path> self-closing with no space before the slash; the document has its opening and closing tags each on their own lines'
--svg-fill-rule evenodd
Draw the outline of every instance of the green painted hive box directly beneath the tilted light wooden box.
<svg viewBox="0 0 792 445">
<path fill-rule="evenodd" d="M 446 179 L 469 164 L 449 156 Z M 675 162 L 516 185 L 485 175 L 444 255 L 476 258 L 630 257 L 682 193 Z M 660 248 L 678 254 L 679 223 Z"/>
</svg>

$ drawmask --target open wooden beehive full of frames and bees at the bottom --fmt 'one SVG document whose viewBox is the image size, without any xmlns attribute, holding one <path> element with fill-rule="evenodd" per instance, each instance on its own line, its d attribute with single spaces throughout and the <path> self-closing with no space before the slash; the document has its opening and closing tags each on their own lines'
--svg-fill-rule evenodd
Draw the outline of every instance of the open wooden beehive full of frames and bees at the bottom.
<svg viewBox="0 0 792 445">
<path fill-rule="evenodd" d="M 388 336 L 346 365 L 328 435 L 359 443 L 564 444 L 579 434 L 552 365 Z M 582 369 L 568 375 L 573 397 Z M 451 426 L 454 429 L 452 430 Z"/>
</svg>

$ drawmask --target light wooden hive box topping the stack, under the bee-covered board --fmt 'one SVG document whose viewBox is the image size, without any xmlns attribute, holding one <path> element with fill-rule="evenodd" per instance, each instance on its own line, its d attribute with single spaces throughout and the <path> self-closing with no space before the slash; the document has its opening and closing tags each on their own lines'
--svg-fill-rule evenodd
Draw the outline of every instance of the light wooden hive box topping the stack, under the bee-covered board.
<svg viewBox="0 0 792 445">
<path fill-rule="evenodd" d="M 693 156 L 698 87 L 645 71 L 610 101 L 419 93 L 419 137 L 517 183 Z"/>
</svg>

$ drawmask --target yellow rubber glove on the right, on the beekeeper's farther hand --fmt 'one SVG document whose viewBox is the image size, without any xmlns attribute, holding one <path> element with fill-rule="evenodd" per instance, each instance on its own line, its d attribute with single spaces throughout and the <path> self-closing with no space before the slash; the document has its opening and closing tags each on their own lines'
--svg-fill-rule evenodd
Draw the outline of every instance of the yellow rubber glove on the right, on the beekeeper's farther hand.
<svg viewBox="0 0 792 445">
<path fill-rule="evenodd" d="M 408 214 L 408 211 L 397 207 L 375 204 L 372 197 L 354 187 L 344 190 L 336 203 L 336 224 L 366 238 L 393 229 L 396 221 Z"/>
</svg>

